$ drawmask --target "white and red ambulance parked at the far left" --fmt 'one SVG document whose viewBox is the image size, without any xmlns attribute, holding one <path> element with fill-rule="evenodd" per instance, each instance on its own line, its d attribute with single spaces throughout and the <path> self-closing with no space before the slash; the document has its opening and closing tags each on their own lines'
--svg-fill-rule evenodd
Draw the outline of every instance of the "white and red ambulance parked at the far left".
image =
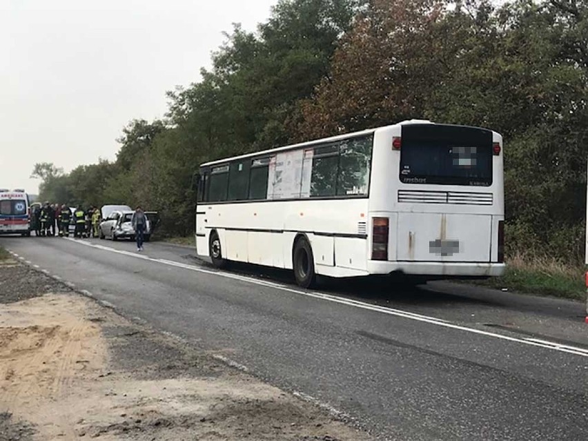
<svg viewBox="0 0 588 441">
<path fill-rule="evenodd" d="M 0 188 L 0 234 L 30 236 L 29 198 L 24 190 Z"/>
</svg>

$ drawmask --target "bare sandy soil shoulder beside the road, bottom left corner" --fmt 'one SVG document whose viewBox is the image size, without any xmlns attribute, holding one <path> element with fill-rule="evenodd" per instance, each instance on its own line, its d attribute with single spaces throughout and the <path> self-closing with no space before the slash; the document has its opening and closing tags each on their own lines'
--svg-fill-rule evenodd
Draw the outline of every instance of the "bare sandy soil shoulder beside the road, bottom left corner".
<svg viewBox="0 0 588 441">
<path fill-rule="evenodd" d="M 14 295 L 25 273 L 37 297 Z M 45 288 L 55 282 L 0 265 L 0 440 L 371 439 L 85 297 L 39 296 Z"/>
</svg>

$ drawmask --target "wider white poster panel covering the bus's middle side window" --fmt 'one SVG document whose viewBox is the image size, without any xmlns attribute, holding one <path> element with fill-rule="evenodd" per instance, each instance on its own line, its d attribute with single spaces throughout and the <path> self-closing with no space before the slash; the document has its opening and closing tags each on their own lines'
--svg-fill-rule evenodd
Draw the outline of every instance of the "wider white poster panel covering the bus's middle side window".
<svg viewBox="0 0 588 441">
<path fill-rule="evenodd" d="M 269 199 L 300 197 L 303 155 L 302 150 L 293 150 L 272 158 L 268 177 Z"/>
</svg>

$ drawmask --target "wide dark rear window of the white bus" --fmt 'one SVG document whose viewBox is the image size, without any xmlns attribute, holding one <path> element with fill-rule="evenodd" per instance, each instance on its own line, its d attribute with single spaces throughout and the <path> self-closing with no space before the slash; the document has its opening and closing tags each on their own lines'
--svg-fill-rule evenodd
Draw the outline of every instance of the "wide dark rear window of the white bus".
<svg viewBox="0 0 588 441">
<path fill-rule="evenodd" d="M 400 182 L 491 186 L 492 157 L 490 130 L 406 125 L 402 127 Z"/>
</svg>

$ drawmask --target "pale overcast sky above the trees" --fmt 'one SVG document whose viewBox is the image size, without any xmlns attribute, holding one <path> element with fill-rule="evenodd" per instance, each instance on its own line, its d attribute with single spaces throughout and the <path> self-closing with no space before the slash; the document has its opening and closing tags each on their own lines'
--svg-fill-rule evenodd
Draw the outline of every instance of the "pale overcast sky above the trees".
<svg viewBox="0 0 588 441">
<path fill-rule="evenodd" d="M 277 0 L 0 0 L 0 188 L 37 193 L 36 162 L 113 160 L 121 129 L 166 112 L 231 23 Z"/>
</svg>

